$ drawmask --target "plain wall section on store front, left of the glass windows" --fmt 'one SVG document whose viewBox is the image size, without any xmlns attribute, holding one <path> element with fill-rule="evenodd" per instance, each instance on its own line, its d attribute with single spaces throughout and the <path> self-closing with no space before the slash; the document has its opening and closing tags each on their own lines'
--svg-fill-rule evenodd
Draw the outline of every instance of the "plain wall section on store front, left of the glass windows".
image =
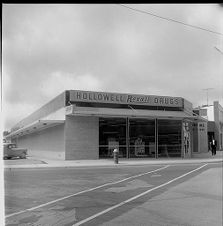
<svg viewBox="0 0 223 226">
<path fill-rule="evenodd" d="M 65 159 L 99 158 L 99 118 L 66 116 Z"/>
</svg>

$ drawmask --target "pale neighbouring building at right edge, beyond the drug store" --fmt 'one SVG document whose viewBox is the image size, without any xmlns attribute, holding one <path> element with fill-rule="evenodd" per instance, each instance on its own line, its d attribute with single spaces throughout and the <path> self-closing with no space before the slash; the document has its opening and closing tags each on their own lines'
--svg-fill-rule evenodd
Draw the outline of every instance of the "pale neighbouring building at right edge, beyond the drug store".
<svg viewBox="0 0 223 226">
<path fill-rule="evenodd" d="M 223 107 L 218 101 L 213 105 L 197 107 L 194 113 L 208 120 L 208 142 L 212 138 L 217 140 L 217 149 L 223 149 Z"/>
</svg>

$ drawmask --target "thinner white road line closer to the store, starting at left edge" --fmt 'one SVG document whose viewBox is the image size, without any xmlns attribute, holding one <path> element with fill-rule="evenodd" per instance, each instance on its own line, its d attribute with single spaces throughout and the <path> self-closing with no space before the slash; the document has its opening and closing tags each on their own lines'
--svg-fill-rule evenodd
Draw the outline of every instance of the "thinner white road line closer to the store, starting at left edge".
<svg viewBox="0 0 223 226">
<path fill-rule="evenodd" d="M 77 193 L 72 194 L 72 195 L 68 195 L 68 196 L 65 196 L 65 197 L 62 197 L 62 198 L 59 198 L 59 199 L 55 199 L 53 201 L 41 204 L 39 206 L 35 206 L 35 207 L 29 208 L 29 209 L 25 209 L 25 210 L 22 210 L 22 211 L 19 211 L 19 212 L 16 212 L 16 213 L 12 213 L 12 214 L 6 215 L 5 218 L 12 217 L 12 216 L 15 216 L 15 215 L 19 215 L 21 213 L 25 213 L 25 212 L 28 212 L 28 211 L 36 210 L 36 209 L 39 209 L 41 207 L 48 206 L 48 205 L 50 205 L 52 203 L 56 203 L 56 202 L 62 201 L 64 199 L 68 199 L 70 197 L 77 196 L 77 195 L 80 195 L 80 194 L 83 194 L 83 193 L 86 193 L 86 192 L 89 192 L 89 191 L 94 191 L 94 190 L 99 189 L 99 188 L 103 188 L 103 187 L 106 187 L 106 186 L 109 186 L 109 185 L 113 185 L 113 184 L 118 184 L 118 183 L 121 183 L 121 182 L 129 180 L 129 179 L 133 179 L 133 178 L 140 177 L 140 176 L 143 176 L 143 175 L 146 175 L 146 174 L 157 172 L 157 171 L 166 169 L 167 167 L 169 167 L 169 165 L 161 167 L 161 168 L 158 168 L 156 170 L 152 170 L 152 171 L 146 172 L 146 173 L 141 173 L 141 174 L 138 174 L 138 175 L 135 175 L 135 176 L 127 177 L 127 178 L 119 180 L 119 181 L 102 184 L 102 185 L 94 187 L 94 188 L 90 188 L 90 189 L 87 189 L 87 190 L 84 190 L 84 191 L 77 192 Z"/>
</svg>

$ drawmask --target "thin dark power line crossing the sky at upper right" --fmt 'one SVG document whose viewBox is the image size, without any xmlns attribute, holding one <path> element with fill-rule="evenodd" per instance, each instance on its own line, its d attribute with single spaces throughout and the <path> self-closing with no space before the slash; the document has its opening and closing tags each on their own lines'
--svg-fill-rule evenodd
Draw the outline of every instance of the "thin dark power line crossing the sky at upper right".
<svg viewBox="0 0 223 226">
<path fill-rule="evenodd" d="M 202 27 L 198 27 L 198 26 L 195 26 L 195 25 L 187 24 L 187 23 L 184 23 L 184 22 L 181 22 L 181 21 L 178 21 L 178 20 L 174 20 L 174 19 L 171 19 L 171 18 L 159 16 L 159 15 L 156 15 L 154 13 L 150 13 L 150 12 L 147 12 L 147 11 L 144 11 L 144 10 L 141 10 L 141 9 L 132 8 L 132 7 L 129 7 L 129 6 L 126 6 L 126 5 L 122 5 L 122 4 L 117 4 L 117 5 L 119 5 L 121 7 L 124 7 L 124 8 L 127 8 L 127 9 L 130 9 L 130 10 L 133 10 L 133 11 L 136 11 L 136 12 L 139 12 L 139 13 L 144 13 L 144 14 L 147 14 L 147 15 L 150 15 L 150 16 L 154 16 L 154 17 L 157 17 L 159 19 L 167 20 L 167 21 L 170 21 L 170 22 L 175 22 L 175 23 L 178 23 L 178 24 L 181 24 L 181 25 L 185 25 L 185 26 L 188 26 L 188 27 L 200 29 L 200 30 L 203 30 L 203 31 L 207 31 L 207 32 L 211 32 L 211 33 L 223 36 L 222 33 L 217 32 L 217 31 L 212 31 L 212 30 L 209 30 L 209 29 L 206 29 L 206 28 L 202 28 Z"/>
</svg>

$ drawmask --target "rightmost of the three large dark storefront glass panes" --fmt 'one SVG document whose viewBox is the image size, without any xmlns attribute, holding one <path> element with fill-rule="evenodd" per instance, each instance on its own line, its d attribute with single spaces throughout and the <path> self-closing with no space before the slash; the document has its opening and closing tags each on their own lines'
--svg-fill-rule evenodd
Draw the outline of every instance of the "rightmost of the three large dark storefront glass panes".
<svg viewBox="0 0 223 226">
<path fill-rule="evenodd" d="M 181 157 L 180 120 L 157 120 L 158 122 L 158 157 Z"/>
</svg>

